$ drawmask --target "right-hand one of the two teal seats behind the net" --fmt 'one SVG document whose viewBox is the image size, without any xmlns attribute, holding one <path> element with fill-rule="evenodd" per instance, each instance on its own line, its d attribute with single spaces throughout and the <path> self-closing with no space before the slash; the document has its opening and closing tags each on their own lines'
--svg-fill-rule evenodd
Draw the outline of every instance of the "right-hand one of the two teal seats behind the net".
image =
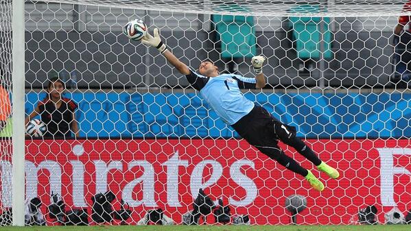
<svg viewBox="0 0 411 231">
<path fill-rule="evenodd" d="M 318 13 L 320 5 L 303 4 L 297 5 L 290 10 L 291 13 L 301 14 Z M 302 74 L 310 74 L 317 68 L 316 62 L 322 58 L 331 58 L 331 32 L 329 31 L 329 18 L 324 17 L 290 17 L 292 28 L 292 40 L 297 57 L 301 62 L 298 71 Z M 321 40 L 323 47 L 320 47 Z"/>
</svg>

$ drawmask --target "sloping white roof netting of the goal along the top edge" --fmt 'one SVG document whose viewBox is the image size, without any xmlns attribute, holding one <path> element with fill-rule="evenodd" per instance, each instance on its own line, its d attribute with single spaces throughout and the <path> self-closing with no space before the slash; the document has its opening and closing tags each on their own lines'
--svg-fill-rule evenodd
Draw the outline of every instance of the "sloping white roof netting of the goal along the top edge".
<svg viewBox="0 0 411 231">
<path fill-rule="evenodd" d="M 65 2 L 73 4 L 78 3 L 77 1 Z M 82 4 L 98 5 L 112 8 L 134 8 L 137 10 L 144 9 L 164 12 L 187 12 L 196 14 L 237 14 L 255 16 L 398 16 L 401 12 L 404 2 L 404 0 L 164 0 L 155 2 L 130 0 L 85 0 L 82 1 Z M 303 9 L 298 12 L 292 10 L 292 8 L 295 8 L 298 5 L 307 3 L 310 5 L 316 5 L 316 9 Z"/>
</svg>

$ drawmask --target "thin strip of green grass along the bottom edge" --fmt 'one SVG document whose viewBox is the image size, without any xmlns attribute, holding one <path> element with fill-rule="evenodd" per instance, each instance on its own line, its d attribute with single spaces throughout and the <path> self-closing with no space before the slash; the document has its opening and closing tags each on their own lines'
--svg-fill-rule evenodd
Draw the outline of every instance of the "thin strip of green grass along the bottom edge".
<svg viewBox="0 0 411 231">
<path fill-rule="evenodd" d="M 1 227 L 0 231 L 410 231 L 410 225 L 376 226 L 35 226 Z"/>
</svg>

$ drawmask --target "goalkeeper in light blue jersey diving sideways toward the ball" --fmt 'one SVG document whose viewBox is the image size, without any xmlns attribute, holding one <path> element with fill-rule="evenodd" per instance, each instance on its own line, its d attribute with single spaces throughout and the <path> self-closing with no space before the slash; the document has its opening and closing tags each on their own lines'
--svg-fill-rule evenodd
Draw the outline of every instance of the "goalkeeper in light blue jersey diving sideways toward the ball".
<svg viewBox="0 0 411 231">
<path fill-rule="evenodd" d="M 318 170 L 323 171 L 331 178 L 338 178 L 340 173 L 325 162 L 322 162 L 314 151 L 296 137 L 296 129 L 285 125 L 272 117 L 263 107 L 255 105 L 246 99 L 240 88 L 259 89 L 266 85 L 262 66 L 265 58 L 255 56 L 251 62 L 255 71 L 255 78 L 241 75 L 220 74 L 218 67 L 212 62 L 201 62 L 198 73 L 180 62 L 174 54 L 161 42 L 158 29 L 154 29 L 154 36 L 146 34 L 141 40 L 143 44 L 156 47 L 169 63 L 187 77 L 188 82 L 200 91 L 202 98 L 207 101 L 220 118 L 231 125 L 242 138 L 250 145 L 259 149 L 263 154 L 277 160 L 280 165 L 305 177 L 309 184 L 317 191 L 324 190 L 324 184 L 309 170 L 304 169 L 294 159 L 284 154 L 278 142 L 290 145 L 311 161 Z"/>
</svg>

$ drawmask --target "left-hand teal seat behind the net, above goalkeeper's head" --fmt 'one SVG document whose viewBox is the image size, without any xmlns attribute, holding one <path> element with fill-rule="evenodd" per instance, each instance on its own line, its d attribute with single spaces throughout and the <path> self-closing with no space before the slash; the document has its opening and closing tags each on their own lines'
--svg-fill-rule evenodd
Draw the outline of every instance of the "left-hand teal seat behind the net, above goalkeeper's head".
<svg viewBox="0 0 411 231">
<path fill-rule="evenodd" d="M 218 10 L 228 12 L 248 12 L 242 5 L 222 5 Z M 220 41 L 221 58 L 226 63 L 228 73 L 237 73 L 238 64 L 244 58 L 252 58 L 256 53 L 253 16 L 214 14 L 211 20 L 217 32 L 216 41 Z"/>
</svg>

